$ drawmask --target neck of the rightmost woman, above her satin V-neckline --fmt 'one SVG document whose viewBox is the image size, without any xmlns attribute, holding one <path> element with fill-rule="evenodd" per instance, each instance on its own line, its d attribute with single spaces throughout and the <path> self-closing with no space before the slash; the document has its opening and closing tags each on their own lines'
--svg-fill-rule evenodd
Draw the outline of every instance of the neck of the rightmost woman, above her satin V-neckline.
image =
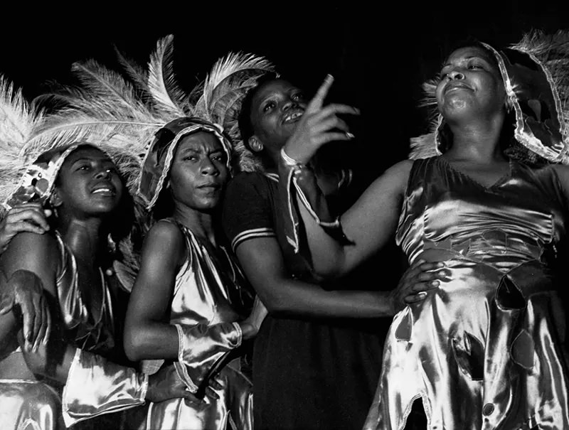
<svg viewBox="0 0 569 430">
<path fill-rule="evenodd" d="M 477 122 L 449 124 L 452 131 L 452 147 L 445 153 L 447 158 L 488 163 L 504 161 L 500 137 L 504 117 Z"/>
</svg>

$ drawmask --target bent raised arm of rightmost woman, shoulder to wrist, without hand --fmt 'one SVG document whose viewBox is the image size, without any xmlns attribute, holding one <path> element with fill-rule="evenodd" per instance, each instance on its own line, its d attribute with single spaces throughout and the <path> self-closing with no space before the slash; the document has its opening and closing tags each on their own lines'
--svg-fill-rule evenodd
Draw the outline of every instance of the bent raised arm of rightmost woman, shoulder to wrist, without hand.
<svg viewBox="0 0 569 430">
<path fill-rule="evenodd" d="M 300 252 L 303 238 L 299 236 L 304 234 L 317 274 L 334 278 L 351 272 L 393 238 L 410 167 L 411 161 L 395 164 L 373 181 L 346 213 L 334 217 L 314 173 L 303 167 L 292 172 L 294 167 L 282 163 L 282 214 L 285 226 L 290 226 L 287 239 L 295 242 Z M 340 236 L 344 240 L 339 240 Z"/>
</svg>

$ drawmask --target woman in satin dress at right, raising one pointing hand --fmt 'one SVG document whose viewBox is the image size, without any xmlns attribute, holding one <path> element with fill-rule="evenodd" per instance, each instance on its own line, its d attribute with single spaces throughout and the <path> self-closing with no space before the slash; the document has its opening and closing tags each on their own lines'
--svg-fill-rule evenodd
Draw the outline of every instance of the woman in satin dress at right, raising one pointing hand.
<svg viewBox="0 0 569 430">
<path fill-rule="evenodd" d="M 326 235 L 299 205 L 322 276 L 349 272 L 393 232 L 411 263 L 443 261 L 450 271 L 424 301 L 395 316 L 366 428 L 413 426 L 413 402 L 422 403 L 428 429 L 569 427 L 558 289 L 569 169 L 508 155 L 566 161 L 560 100 L 568 94 L 552 82 L 566 73 L 568 48 L 560 33 L 533 35 L 500 52 L 481 43 L 454 50 L 432 87 L 440 112 L 436 138 L 421 139 L 431 154 L 436 142 L 440 155 L 395 164 L 341 215 L 341 224 L 335 219 L 350 244 Z M 331 132 L 324 122 L 334 115 L 322 108 L 329 85 L 282 153 L 287 193 L 316 190 L 305 163 Z M 285 207 L 294 220 L 294 206 Z"/>
</svg>

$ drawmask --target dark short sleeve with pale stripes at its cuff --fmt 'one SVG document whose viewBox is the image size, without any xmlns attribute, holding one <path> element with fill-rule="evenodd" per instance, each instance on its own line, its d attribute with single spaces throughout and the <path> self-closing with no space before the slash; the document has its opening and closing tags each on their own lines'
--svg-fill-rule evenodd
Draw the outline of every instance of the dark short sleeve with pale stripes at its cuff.
<svg viewBox="0 0 569 430">
<path fill-rule="evenodd" d="M 261 173 L 240 173 L 228 184 L 222 224 L 233 252 L 245 240 L 276 237 L 268 181 Z"/>
</svg>

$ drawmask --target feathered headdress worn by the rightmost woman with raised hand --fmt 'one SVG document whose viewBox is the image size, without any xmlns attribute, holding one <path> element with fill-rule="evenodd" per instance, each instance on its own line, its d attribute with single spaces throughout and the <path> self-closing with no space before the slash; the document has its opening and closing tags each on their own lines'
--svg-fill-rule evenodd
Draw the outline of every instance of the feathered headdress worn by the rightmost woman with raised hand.
<svg viewBox="0 0 569 430">
<path fill-rule="evenodd" d="M 569 163 L 569 31 L 545 34 L 531 31 L 519 43 L 504 50 L 482 43 L 499 65 L 507 103 L 514 109 L 514 137 L 528 153 L 526 158 L 544 158 Z M 431 131 L 410 139 L 409 158 L 441 154 L 440 129 L 444 122 L 436 112 L 438 80 L 423 84 L 422 106 L 434 107 Z"/>
</svg>

